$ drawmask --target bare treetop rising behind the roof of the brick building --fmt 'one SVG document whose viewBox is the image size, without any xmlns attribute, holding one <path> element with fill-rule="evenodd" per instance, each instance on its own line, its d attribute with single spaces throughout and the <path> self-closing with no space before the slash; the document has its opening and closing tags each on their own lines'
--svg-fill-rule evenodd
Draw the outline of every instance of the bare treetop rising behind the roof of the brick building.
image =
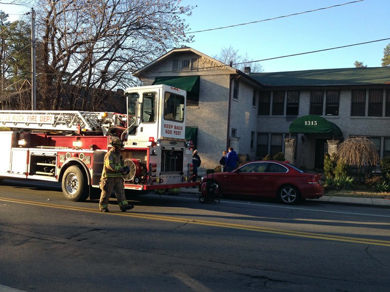
<svg viewBox="0 0 390 292">
<path fill-rule="evenodd" d="M 251 72 L 261 73 L 264 71 L 260 63 L 253 62 L 253 59 L 247 53 L 239 55 L 238 50 L 235 50 L 232 46 L 229 46 L 229 48 L 223 47 L 219 54 L 214 55 L 213 58 L 228 65 L 232 63 L 234 68 L 241 71 L 244 71 L 245 67 L 251 67 Z"/>
</svg>

